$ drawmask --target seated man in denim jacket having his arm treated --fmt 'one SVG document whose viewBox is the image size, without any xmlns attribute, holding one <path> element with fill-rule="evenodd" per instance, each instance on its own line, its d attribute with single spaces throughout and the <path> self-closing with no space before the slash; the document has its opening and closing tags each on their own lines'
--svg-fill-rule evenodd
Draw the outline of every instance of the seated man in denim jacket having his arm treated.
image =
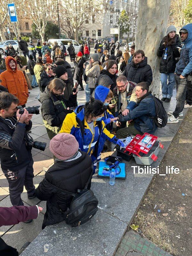
<svg viewBox="0 0 192 256">
<path fill-rule="evenodd" d="M 145 82 L 141 82 L 137 84 L 135 93 L 138 98 L 136 107 L 129 111 L 127 116 L 122 118 L 118 116 L 117 126 L 120 126 L 121 122 L 129 122 L 128 127 L 117 130 L 116 135 L 118 139 L 145 132 L 153 134 L 157 129 L 153 118 L 149 118 L 156 116 L 155 101 L 151 92 L 149 92 L 149 86 Z"/>
</svg>

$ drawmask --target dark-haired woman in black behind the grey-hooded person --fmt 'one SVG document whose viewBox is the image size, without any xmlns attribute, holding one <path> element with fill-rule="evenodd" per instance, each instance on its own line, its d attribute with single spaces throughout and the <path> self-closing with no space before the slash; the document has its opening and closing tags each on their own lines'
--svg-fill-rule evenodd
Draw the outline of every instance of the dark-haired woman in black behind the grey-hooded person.
<svg viewBox="0 0 192 256">
<path fill-rule="evenodd" d="M 113 89 L 116 87 L 116 79 L 117 79 L 117 70 L 118 70 L 118 66 L 117 66 L 117 63 L 115 60 L 108 60 L 108 63 L 107 63 L 107 69 L 102 69 L 101 72 L 100 72 L 100 75 L 98 76 L 96 82 L 95 82 L 95 88 L 99 85 L 98 84 L 98 80 L 100 78 L 100 76 L 103 76 L 103 75 L 107 75 L 111 78 L 111 80 L 113 81 L 113 84 L 111 84 L 111 91 L 113 91 Z"/>
</svg>

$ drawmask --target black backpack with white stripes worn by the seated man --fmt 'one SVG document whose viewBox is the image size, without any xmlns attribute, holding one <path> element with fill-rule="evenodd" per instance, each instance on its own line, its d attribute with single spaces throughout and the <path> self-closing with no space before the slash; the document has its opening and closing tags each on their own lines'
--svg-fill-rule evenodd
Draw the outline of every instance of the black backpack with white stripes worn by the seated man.
<svg viewBox="0 0 192 256">
<path fill-rule="evenodd" d="M 163 102 L 161 100 L 159 100 L 155 96 L 153 96 L 153 100 L 155 101 L 156 116 L 149 116 L 149 118 L 152 118 L 154 120 L 157 127 L 162 128 L 167 124 L 167 112 L 165 111 Z"/>
</svg>

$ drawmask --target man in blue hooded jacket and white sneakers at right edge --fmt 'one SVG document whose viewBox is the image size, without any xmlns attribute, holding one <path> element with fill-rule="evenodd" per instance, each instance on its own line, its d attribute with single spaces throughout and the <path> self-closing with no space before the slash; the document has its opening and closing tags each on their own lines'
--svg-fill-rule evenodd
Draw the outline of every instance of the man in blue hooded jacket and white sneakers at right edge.
<svg viewBox="0 0 192 256">
<path fill-rule="evenodd" d="M 183 47 L 180 52 L 180 60 L 176 64 L 175 82 L 176 82 L 176 108 L 174 111 L 169 111 L 168 124 L 179 122 L 179 116 L 183 116 L 183 108 L 192 107 L 192 23 L 180 29 L 180 37 L 183 42 Z M 185 103 L 185 93 L 188 91 L 187 102 Z"/>
</svg>

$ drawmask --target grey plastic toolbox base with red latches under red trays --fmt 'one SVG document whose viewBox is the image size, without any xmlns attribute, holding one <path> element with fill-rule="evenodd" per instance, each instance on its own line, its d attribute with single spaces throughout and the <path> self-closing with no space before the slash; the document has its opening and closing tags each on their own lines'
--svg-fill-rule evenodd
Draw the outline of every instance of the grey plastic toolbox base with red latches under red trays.
<svg viewBox="0 0 192 256">
<path fill-rule="evenodd" d="M 157 160 L 157 155 L 160 151 L 160 148 L 162 148 L 162 144 L 160 140 L 156 140 L 156 142 L 153 144 L 153 147 L 150 149 L 148 154 L 139 153 L 139 156 L 136 156 L 133 154 L 133 157 L 135 158 L 136 164 L 143 164 L 143 165 L 150 165 L 153 163 L 153 161 Z"/>
</svg>

